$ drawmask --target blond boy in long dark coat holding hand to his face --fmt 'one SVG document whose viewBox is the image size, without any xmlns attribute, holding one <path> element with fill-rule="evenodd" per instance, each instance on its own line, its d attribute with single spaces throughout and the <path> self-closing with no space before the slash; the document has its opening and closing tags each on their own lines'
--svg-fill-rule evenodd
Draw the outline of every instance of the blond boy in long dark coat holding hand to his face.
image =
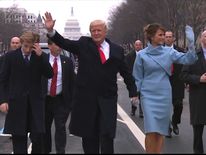
<svg viewBox="0 0 206 155">
<path fill-rule="evenodd" d="M 27 154 L 27 134 L 45 132 L 41 78 L 53 71 L 34 33 L 20 37 L 21 48 L 6 53 L 0 72 L 0 110 L 7 113 L 4 133 L 12 135 L 13 152 Z"/>
</svg>

